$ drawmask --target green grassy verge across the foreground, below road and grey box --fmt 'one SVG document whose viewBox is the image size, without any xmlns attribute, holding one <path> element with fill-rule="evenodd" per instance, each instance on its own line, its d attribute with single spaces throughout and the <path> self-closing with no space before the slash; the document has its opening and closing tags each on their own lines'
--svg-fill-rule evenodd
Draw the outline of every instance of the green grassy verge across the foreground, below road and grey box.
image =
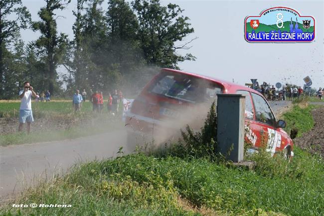
<svg viewBox="0 0 324 216">
<path fill-rule="evenodd" d="M 142 153 L 94 161 L 29 189 L 13 202 L 70 204 L 71 208 L 17 209 L 8 203 L 0 214 L 192 215 L 194 212 L 179 202 L 185 200 L 190 206 L 220 215 L 320 216 L 324 209 L 323 160 L 299 148 L 295 151 L 291 163 L 279 157 L 255 158 L 267 169 L 254 172 L 204 159 Z M 268 163 L 272 166 L 265 166 Z"/>
</svg>

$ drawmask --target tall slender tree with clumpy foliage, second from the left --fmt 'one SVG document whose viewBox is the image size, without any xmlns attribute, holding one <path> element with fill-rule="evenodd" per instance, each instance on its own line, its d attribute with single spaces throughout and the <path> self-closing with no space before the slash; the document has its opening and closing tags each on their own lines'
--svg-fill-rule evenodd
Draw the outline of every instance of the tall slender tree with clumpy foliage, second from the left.
<svg viewBox="0 0 324 216">
<path fill-rule="evenodd" d="M 63 10 L 71 0 L 45 0 L 46 6 L 40 8 L 38 15 L 41 21 L 33 22 L 33 29 L 39 30 L 41 36 L 36 41 L 36 46 L 43 53 L 46 62 L 45 82 L 53 94 L 54 87 L 58 90 L 56 68 L 62 61 L 62 56 L 67 45 L 67 35 L 57 33 L 55 10 Z"/>
</svg>

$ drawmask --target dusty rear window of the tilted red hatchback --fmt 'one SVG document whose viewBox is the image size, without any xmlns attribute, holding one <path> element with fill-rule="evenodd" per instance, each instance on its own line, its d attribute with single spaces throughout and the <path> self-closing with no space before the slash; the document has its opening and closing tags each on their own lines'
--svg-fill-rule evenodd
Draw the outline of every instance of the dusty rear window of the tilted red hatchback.
<svg viewBox="0 0 324 216">
<path fill-rule="evenodd" d="M 190 103 L 215 100 L 221 88 L 211 81 L 183 74 L 162 73 L 149 92 Z"/>
</svg>

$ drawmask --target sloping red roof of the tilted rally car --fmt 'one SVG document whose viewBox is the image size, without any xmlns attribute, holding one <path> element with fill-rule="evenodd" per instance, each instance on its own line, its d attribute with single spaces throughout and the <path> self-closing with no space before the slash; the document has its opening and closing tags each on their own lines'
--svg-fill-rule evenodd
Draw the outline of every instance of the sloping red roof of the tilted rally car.
<svg viewBox="0 0 324 216">
<path fill-rule="evenodd" d="M 204 79 L 204 80 L 210 80 L 210 81 L 213 81 L 213 82 L 216 82 L 216 83 L 222 85 L 227 91 L 245 90 L 245 91 L 248 91 L 248 92 L 253 92 L 255 94 L 261 95 L 259 92 L 255 91 L 255 90 L 253 90 L 251 88 L 248 88 L 246 86 L 238 85 L 238 84 L 235 84 L 235 83 L 232 83 L 232 82 L 228 82 L 228 81 L 217 79 L 217 78 L 210 77 L 210 76 L 205 76 L 205 75 L 200 75 L 200 74 L 191 73 L 191 72 L 185 72 L 185 71 L 180 71 L 180 70 L 174 70 L 174 69 L 169 69 L 169 68 L 162 68 L 162 71 L 173 72 L 173 73 L 181 73 L 181 74 L 201 78 L 201 79 Z"/>
</svg>

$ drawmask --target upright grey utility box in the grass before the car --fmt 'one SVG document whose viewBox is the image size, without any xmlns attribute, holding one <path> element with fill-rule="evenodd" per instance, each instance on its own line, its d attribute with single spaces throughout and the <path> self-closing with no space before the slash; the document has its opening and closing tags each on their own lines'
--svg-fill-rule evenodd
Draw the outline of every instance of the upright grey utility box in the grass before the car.
<svg viewBox="0 0 324 216">
<path fill-rule="evenodd" d="M 233 162 L 243 160 L 244 119 L 245 96 L 217 94 L 217 150 Z"/>
</svg>

